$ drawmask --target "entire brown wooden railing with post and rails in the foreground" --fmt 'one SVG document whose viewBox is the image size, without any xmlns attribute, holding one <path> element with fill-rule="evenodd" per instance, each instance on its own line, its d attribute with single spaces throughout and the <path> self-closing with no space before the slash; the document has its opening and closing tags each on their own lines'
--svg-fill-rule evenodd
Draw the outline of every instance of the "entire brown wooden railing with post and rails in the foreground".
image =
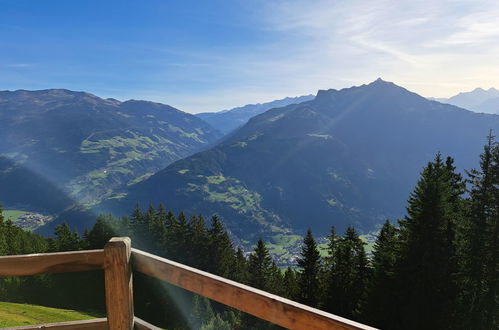
<svg viewBox="0 0 499 330">
<path fill-rule="evenodd" d="M 374 329 L 289 299 L 132 249 L 112 238 L 103 250 L 0 257 L 0 276 L 104 270 L 107 318 L 9 329 L 159 329 L 133 312 L 132 270 L 289 329 Z"/>
</svg>

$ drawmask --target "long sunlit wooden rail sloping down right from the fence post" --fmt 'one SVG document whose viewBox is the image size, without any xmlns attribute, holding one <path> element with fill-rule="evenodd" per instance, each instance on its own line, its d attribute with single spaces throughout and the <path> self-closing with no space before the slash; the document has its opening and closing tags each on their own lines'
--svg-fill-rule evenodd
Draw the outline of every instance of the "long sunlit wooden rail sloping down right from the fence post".
<svg viewBox="0 0 499 330">
<path fill-rule="evenodd" d="M 132 249 L 134 270 L 288 329 L 374 329 L 180 263 Z"/>
</svg>

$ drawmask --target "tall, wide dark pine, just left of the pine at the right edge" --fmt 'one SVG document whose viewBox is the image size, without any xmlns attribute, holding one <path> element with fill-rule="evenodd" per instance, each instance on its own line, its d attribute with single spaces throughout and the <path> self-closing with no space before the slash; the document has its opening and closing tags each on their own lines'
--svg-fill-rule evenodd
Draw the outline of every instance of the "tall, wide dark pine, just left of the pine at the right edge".
<svg viewBox="0 0 499 330">
<path fill-rule="evenodd" d="M 409 198 L 407 217 L 400 221 L 400 256 L 396 282 L 400 300 L 399 327 L 435 329 L 453 326 L 457 297 L 454 228 L 461 186 L 452 160 L 440 154 L 428 163 Z M 403 298 L 402 298 L 403 297 Z"/>
</svg>

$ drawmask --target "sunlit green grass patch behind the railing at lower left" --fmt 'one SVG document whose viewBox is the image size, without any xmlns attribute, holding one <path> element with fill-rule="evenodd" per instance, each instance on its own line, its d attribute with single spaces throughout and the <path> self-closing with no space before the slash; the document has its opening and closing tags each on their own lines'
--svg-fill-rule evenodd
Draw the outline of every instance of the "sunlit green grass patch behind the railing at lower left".
<svg viewBox="0 0 499 330">
<path fill-rule="evenodd" d="M 0 302 L 0 328 L 102 317 L 68 309 Z"/>
</svg>

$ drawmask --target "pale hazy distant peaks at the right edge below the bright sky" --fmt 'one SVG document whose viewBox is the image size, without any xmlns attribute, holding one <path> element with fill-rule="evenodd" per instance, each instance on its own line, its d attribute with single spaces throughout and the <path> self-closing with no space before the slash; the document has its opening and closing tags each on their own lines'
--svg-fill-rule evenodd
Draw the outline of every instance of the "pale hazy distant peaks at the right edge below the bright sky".
<svg viewBox="0 0 499 330">
<path fill-rule="evenodd" d="M 430 98 L 475 112 L 499 114 L 499 90 L 475 88 L 471 92 L 459 93 L 450 98 Z"/>
</svg>

